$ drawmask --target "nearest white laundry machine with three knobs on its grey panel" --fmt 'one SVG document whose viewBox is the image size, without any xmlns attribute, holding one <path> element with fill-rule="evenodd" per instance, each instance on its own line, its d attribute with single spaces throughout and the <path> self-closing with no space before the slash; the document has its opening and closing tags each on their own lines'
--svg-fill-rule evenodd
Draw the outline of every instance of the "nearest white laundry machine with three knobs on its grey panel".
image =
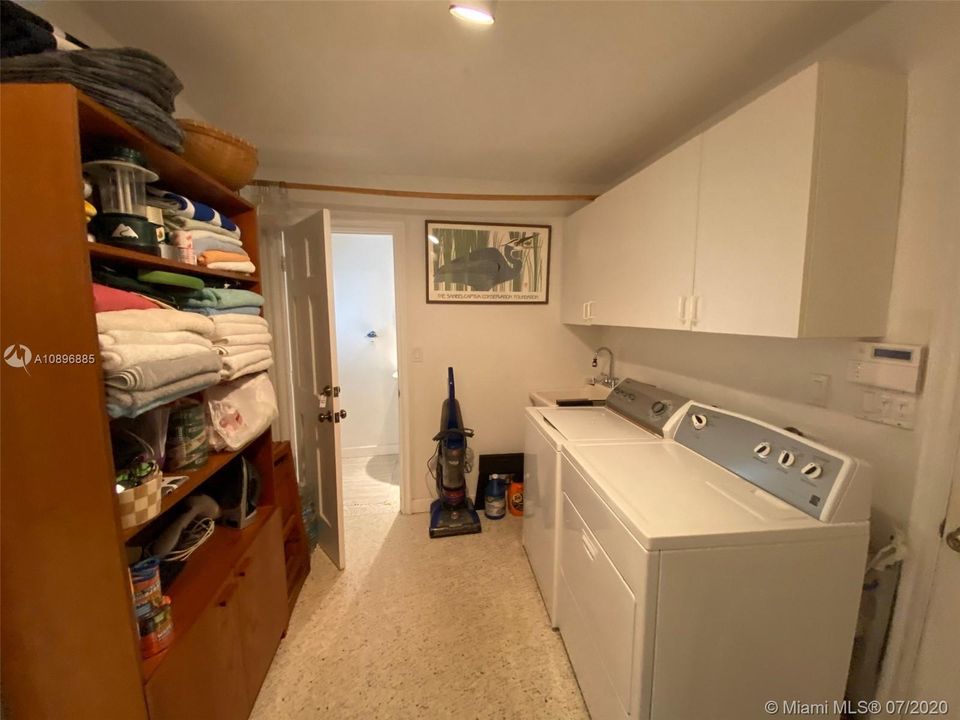
<svg viewBox="0 0 960 720">
<path fill-rule="evenodd" d="M 837 717 L 868 468 L 697 403 L 672 442 L 565 443 L 560 633 L 593 720 Z"/>
</svg>

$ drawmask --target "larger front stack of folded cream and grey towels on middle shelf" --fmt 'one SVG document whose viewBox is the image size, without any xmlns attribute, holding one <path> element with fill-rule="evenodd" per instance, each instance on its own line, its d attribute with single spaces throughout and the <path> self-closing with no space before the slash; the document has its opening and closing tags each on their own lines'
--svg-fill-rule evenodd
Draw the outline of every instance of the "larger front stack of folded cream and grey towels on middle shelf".
<svg viewBox="0 0 960 720">
<path fill-rule="evenodd" d="M 97 331 L 110 417 L 136 417 L 220 382 L 208 318 L 159 308 L 98 312 Z"/>
</svg>

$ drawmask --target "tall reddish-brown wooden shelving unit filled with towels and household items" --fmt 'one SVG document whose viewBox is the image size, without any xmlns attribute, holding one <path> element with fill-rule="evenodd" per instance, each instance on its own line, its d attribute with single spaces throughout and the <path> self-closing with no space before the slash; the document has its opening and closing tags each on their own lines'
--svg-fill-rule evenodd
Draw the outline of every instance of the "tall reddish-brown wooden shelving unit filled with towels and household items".
<svg viewBox="0 0 960 720">
<path fill-rule="evenodd" d="M 254 207 L 69 85 L 0 86 L 0 323 L 34 354 L 93 363 L 0 367 L 4 714 L 97 720 L 247 717 L 288 618 L 283 525 L 267 430 L 236 452 L 213 453 L 163 499 L 159 516 L 120 527 L 91 268 L 182 272 L 259 291 L 257 274 L 210 270 L 89 243 L 81 193 L 84 153 L 136 148 L 160 185 L 204 202 L 240 227 L 259 265 Z M 128 543 L 159 529 L 188 495 L 238 455 L 262 494 L 242 530 L 217 526 L 165 587 L 174 641 L 143 660 L 127 570 Z"/>
</svg>

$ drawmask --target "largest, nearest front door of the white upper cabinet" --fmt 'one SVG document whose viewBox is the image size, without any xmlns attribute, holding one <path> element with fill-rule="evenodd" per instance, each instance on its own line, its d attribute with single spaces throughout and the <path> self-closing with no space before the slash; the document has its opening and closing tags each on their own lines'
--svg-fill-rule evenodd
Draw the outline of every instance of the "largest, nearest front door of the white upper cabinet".
<svg viewBox="0 0 960 720">
<path fill-rule="evenodd" d="M 796 337 L 817 66 L 703 134 L 694 329 Z"/>
</svg>

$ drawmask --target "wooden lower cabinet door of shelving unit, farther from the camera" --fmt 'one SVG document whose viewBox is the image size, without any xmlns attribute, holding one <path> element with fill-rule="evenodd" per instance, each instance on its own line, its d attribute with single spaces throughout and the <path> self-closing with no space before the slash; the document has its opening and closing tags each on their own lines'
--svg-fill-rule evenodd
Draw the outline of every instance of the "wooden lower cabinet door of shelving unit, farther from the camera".
<svg viewBox="0 0 960 720">
<path fill-rule="evenodd" d="M 261 508 L 261 512 L 267 510 L 270 508 Z M 245 682 L 241 684 L 252 704 L 287 625 L 287 577 L 280 512 L 271 513 L 263 530 L 237 565 L 236 572 L 245 672 Z"/>
</svg>

